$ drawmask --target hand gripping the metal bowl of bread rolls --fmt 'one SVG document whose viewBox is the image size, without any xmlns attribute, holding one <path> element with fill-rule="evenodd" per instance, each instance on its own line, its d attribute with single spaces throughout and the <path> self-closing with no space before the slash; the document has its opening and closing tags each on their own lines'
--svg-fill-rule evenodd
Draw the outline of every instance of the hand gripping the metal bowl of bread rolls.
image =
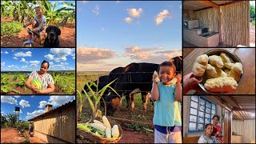
<svg viewBox="0 0 256 144">
<path fill-rule="evenodd" d="M 202 78 L 194 78 L 194 74 L 192 72 L 190 74 L 186 74 L 183 78 L 184 93 L 186 94 L 189 90 L 202 91 L 202 89 L 198 86 L 199 82 L 202 82 Z"/>
</svg>

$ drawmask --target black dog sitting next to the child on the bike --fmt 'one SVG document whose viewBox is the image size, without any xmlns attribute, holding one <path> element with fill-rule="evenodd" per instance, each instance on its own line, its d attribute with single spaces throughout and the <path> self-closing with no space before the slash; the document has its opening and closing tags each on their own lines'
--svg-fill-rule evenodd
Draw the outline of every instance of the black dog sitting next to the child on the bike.
<svg viewBox="0 0 256 144">
<path fill-rule="evenodd" d="M 47 37 L 43 47 L 59 47 L 58 36 L 61 30 L 57 26 L 48 26 L 46 29 Z"/>
</svg>

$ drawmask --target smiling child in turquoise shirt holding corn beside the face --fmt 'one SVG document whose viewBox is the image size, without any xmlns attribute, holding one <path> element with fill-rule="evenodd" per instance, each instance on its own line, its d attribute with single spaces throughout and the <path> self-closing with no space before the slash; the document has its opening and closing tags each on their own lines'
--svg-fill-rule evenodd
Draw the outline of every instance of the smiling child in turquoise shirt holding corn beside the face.
<svg viewBox="0 0 256 144">
<path fill-rule="evenodd" d="M 172 62 L 162 62 L 158 67 L 160 82 L 153 84 L 150 98 L 154 102 L 154 143 L 182 143 L 182 86 L 181 74 L 177 74 L 177 83 L 170 85 L 175 78 L 176 67 Z"/>
</svg>

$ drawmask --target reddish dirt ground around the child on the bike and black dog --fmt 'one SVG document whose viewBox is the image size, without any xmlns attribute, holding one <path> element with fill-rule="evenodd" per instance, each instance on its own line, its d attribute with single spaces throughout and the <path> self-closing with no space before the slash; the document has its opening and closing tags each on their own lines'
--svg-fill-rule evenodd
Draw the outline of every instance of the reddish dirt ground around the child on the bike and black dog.
<svg viewBox="0 0 256 144">
<path fill-rule="evenodd" d="M 2 22 L 10 22 L 10 18 L 1 18 Z M 30 30 L 32 26 L 28 26 Z M 46 30 L 47 26 L 45 27 Z M 74 26 L 64 26 L 60 28 L 62 34 L 58 37 L 60 42 L 60 47 L 75 47 L 75 27 Z M 46 31 L 43 30 L 43 34 L 46 34 Z M 29 34 L 26 29 L 20 31 L 16 36 L 1 36 L 1 47 L 21 47 L 23 42 L 28 40 Z M 34 47 L 42 47 L 38 43 L 38 39 L 34 42 Z"/>
</svg>

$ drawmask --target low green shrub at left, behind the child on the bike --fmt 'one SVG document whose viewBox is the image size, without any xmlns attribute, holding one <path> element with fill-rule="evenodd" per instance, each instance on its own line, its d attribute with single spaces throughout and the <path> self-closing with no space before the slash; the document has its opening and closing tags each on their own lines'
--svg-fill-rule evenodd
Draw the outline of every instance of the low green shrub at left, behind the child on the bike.
<svg viewBox="0 0 256 144">
<path fill-rule="evenodd" d="M 21 22 L 1 22 L 1 36 L 10 35 L 20 32 L 23 29 Z"/>
</svg>

